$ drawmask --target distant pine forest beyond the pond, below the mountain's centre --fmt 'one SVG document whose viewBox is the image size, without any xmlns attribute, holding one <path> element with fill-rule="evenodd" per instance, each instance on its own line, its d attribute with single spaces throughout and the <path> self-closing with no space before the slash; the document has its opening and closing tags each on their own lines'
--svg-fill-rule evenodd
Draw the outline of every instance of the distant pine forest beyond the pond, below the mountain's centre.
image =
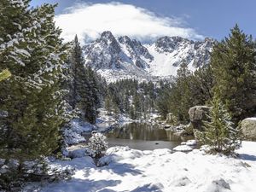
<svg viewBox="0 0 256 192">
<path fill-rule="evenodd" d="M 152 82 L 139 84 L 135 79 L 122 79 L 108 84 L 105 108 L 129 114 L 131 119 L 146 119 L 148 113 L 154 112 L 157 91 Z"/>
</svg>

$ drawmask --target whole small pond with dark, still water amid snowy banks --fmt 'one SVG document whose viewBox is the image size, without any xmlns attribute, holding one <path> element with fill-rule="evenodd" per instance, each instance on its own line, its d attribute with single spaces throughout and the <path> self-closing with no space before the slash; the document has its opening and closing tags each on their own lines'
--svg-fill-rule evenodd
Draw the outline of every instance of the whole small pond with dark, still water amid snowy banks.
<svg viewBox="0 0 256 192">
<path fill-rule="evenodd" d="M 129 146 L 140 150 L 172 149 L 183 141 L 193 139 L 193 137 L 179 137 L 171 130 L 160 128 L 159 125 L 144 123 L 116 125 L 105 133 L 105 136 L 108 138 L 108 147 Z"/>
</svg>

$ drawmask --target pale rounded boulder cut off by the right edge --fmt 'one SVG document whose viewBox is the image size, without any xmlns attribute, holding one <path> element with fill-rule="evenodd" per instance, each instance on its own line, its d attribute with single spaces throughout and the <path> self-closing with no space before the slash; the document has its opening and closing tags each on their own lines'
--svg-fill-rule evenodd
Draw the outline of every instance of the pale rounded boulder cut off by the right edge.
<svg viewBox="0 0 256 192">
<path fill-rule="evenodd" d="M 241 131 L 245 138 L 256 141 L 256 117 L 243 119 Z"/>
</svg>

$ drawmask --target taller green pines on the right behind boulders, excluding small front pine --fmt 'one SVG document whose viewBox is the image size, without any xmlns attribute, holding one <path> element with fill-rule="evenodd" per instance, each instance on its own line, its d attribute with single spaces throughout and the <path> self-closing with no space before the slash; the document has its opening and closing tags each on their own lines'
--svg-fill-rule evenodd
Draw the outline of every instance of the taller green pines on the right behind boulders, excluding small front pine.
<svg viewBox="0 0 256 192">
<path fill-rule="evenodd" d="M 232 121 L 256 113 L 256 43 L 236 25 L 228 38 L 216 42 L 209 65 L 191 72 L 181 64 L 177 77 L 164 84 L 157 106 L 165 118 L 173 113 L 179 122 L 189 122 L 189 108 L 209 105 L 217 96 L 226 106 Z"/>
</svg>

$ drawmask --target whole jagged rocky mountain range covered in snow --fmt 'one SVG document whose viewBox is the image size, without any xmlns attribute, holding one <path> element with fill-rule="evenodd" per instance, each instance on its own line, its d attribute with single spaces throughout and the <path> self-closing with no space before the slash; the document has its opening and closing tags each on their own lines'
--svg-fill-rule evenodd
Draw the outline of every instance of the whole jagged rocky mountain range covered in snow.
<svg viewBox="0 0 256 192">
<path fill-rule="evenodd" d="M 85 64 L 109 81 L 133 78 L 154 80 L 175 76 L 182 62 L 195 70 L 209 62 L 214 41 L 192 41 L 180 37 L 163 37 L 154 44 L 141 44 L 127 36 L 114 38 L 102 32 L 101 38 L 84 46 Z"/>
</svg>

